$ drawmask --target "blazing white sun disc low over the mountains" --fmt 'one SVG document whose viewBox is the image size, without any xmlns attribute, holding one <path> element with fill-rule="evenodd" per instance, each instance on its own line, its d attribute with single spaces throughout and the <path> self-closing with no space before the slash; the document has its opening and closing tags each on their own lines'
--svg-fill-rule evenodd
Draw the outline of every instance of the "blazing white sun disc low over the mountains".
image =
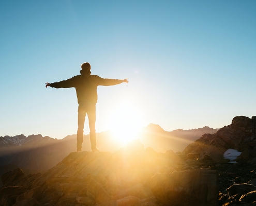
<svg viewBox="0 0 256 206">
<path fill-rule="evenodd" d="M 124 104 L 112 112 L 109 126 L 113 131 L 113 138 L 125 146 L 138 138 L 139 129 L 143 124 L 140 113 L 131 105 Z"/>
</svg>

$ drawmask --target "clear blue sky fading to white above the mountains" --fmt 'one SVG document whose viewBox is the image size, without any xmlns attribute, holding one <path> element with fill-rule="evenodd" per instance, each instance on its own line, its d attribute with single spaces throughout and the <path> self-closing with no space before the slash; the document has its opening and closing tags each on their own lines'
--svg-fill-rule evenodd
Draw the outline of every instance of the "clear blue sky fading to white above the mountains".
<svg viewBox="0 0 256 206">
<path fill-rule="evenodd" d="M 256 1 L 1 1 L 0 19 L 0 136 L 76 133 L 75 90 L 44 82 L 85 61 L 130 81 L 98 88 L 97 132 L 118 109 L 167 131 L 256 115 Z"/>
</svg>

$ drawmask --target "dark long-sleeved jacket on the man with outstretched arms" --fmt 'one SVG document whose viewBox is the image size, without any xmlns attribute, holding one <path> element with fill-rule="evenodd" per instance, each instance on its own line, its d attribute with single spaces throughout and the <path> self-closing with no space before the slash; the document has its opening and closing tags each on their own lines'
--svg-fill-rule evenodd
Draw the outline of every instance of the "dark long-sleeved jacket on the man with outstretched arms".
<svg viewBox="0 0 256 206">
<path fill-rule="evenodd" d="M 81 74 L 74 76 L 70 79 L 54 82 L 50 84 L 50 87 L 54 88 L 76 88 L 78 104 L 92 103 L 96 104 L 98 95 L 97 87 L 102 86 L 111 86 L 115 84 L 122 83 L 123 80 L 119 79 L 103 79 L 97 75 L 91 74 Z"/>
</svg>

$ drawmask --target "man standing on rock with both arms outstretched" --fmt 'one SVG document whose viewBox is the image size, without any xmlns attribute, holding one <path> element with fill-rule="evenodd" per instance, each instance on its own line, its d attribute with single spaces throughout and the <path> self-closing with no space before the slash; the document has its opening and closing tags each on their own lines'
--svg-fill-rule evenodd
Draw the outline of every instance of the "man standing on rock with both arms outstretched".
<svg viewBox="0 0 256 206">
<path fill-rule="evenodd" d="M 83 143 L 83 132 L 84 132 L 84 121 L 86 114 L 89 119 L 89 128 L 90 128 L 90 140 L 91 147 L 93 152 L 99 152 L 96 147 L 96 131 L 95 131 L 95 122 L 96 122 L 96 103 L 97 103 L 97 87 L 110 86 L 119 84 L 122 82 L 129 83 L 128 79 L 103 79 L 97 75 L 91 75 L 91 65 L 88 62 L 81 64 L 82 70 L 80 71 L 81 75 L 74 76 L 70 79 L 46 83 L 47 87 L 54 88 L 76 88 L 77 98 L 78 98 L 78 132 L 77 132 L 77 152 L 82 151 Z"/>
</svg>

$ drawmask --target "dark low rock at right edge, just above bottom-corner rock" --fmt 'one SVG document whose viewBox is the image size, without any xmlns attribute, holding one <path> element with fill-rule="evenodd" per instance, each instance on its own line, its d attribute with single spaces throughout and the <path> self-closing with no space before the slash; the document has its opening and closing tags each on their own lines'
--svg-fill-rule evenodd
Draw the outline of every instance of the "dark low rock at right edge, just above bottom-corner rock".
<svg viewBox="0 0 256 206">
<path fill-rule="evenodd" d="M 245 195 L 245 194 L 247 194 L 251 191 L 255 191 L 255 190 L 256 190 L 256 187 L 252 184 L 234 184 L 234 185 L 230 186 L 229 188 L 227 188 L 229 196 L 238 194 L 239 198 L 242 195 Z"/>
</svg>

